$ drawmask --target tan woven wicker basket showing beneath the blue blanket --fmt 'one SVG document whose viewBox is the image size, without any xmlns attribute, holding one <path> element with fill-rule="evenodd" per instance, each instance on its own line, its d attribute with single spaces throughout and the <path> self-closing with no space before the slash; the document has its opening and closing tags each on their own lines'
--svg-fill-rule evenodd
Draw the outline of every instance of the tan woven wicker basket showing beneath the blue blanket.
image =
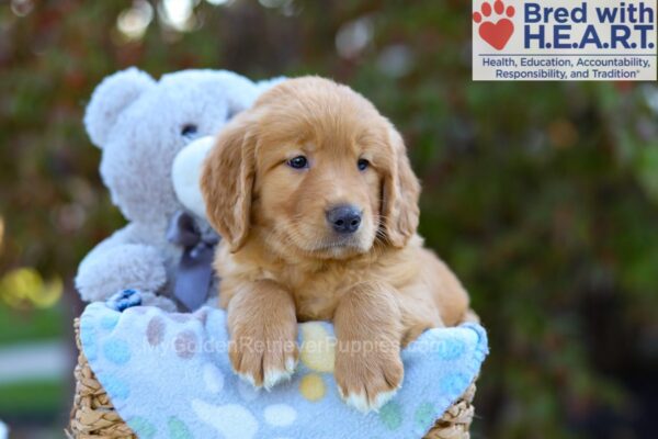
<svg viewBox="0 0 658 439">
<path fill-rule="evenodd" d="M 477 317 L 475 317 L 476 319 Z M 472 318 L 468 318 L 472 319 Z M 76 318 L 78 364 L 76 395 L 67 436 L 77 439 L 136 439 L 137 436 L 118 416 L 103 386 L 97 381 L 80 346 L 80 320 Z M 426 439 L 469 439 L 473 421 L 475 383 L 434 423 Z"/>
</svg>

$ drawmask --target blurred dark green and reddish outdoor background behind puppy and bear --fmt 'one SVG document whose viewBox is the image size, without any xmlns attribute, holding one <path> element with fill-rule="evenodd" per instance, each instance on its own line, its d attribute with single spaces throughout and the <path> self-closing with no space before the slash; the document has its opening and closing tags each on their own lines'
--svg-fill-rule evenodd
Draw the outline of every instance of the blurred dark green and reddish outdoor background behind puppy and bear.
<svg viewBox="0 0 658 439">
<path fill-rule="evenodd" d="M 657 437 L 658 88 L 473 82 L 470 32 L 456 0 L 0 1 L 0 418 L 60 437 L 71 278 L 123 223 L 82 113 L 136 65 L 365 94 L 404 133 L 421 233 L 490 333 L 474 437 Z"/>
</svg>

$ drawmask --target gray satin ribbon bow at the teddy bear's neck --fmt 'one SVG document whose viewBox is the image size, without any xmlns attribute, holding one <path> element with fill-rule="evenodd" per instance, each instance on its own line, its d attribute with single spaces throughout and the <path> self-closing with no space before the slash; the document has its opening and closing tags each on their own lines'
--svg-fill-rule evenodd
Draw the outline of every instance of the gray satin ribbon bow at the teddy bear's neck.
<svg viewBox="0 0 658 439">
<path fill-rule="evenodd" d="M 183 254 L 175 270 L 173 296 L 192 312 L 201 307 L 207 299 L 213 280 L 213 256 L 219 236 L 203 236 L 192 215 L 179 211 L 171 218 L 167 239 L 183 247 Z"/>
</svg>

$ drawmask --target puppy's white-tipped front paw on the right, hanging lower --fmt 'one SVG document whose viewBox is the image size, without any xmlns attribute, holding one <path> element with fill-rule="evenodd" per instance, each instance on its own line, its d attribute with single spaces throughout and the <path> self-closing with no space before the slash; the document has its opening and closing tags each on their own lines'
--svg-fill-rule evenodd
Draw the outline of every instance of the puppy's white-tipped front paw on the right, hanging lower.
<svg viewBox="0 0 658 439">
<path fill-rule="evenodd" d="M 405 370 L 397 352 L 337 352 L 336 382 L 343 401 L 363 412 L 378 410 L 402 385 Z"/>
</svg>

